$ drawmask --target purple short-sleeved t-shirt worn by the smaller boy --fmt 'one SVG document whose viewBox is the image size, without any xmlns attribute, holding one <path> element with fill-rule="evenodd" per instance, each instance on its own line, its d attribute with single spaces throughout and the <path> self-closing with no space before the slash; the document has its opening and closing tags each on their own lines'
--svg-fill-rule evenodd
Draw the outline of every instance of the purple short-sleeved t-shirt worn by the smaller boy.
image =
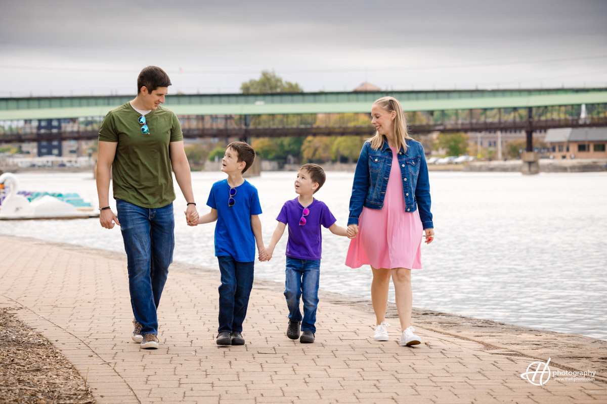
<svg viewBox="0 0 607 404">
<path fill-rule="evenodd" d="M 320 259 L 322 253 L 322 236 L 320 225 L 331 227 L 337 219 L 333 216 L 324 202 L 314 199 L 308 205 L 310 213 L 305 216 L 306 224 L 299 225 L 299 219 L 304 213 L 304 207 L 297 198 L 287 200 L 276 217 L 276 220 L 287 224 L 289 239 L 287 241 L 287 257 L 297 259 Z"/>
</svg>

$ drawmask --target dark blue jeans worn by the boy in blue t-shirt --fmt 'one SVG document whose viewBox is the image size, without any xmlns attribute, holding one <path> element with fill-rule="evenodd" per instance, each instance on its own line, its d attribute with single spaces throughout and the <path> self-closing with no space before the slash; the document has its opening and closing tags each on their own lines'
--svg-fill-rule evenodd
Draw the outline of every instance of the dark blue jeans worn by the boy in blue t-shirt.
<svg viewBox="0 0 607 404">
<path fill-rule="evenodd" d="M 231 256 L 217 257 L 222 284 L 219 286 L 218 333 L 242 333 L 249 295 L 253 288 L 254 261 L 239 262 Z"/>
</svg>

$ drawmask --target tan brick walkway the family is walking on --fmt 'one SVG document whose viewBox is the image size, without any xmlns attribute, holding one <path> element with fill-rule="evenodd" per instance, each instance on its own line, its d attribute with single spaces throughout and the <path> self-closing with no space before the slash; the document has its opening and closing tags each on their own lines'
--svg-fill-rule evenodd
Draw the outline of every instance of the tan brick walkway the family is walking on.
<svg viewBox="0 0 607 404">
<path fill-rule="evenodd" d="M 257 284 L 246 345 L 219 347 L 219 273 L 186 267 L 171 267 L 155 351 L 131 342 L 121 254 L 0 236 L 0 305 L 23 306 L 19 318 L 63 351 L 98 403 L 607 402 L 605 382 L 535 386 L 520 377 L 535 359 L 472 340 L 418 327 L 424 343 L 404 348 L 396 319 L 391 340 L 375 342 L 371 313 L 322 299 L 316 343 L 293 342 L 282 291 Z"/>
</svg>

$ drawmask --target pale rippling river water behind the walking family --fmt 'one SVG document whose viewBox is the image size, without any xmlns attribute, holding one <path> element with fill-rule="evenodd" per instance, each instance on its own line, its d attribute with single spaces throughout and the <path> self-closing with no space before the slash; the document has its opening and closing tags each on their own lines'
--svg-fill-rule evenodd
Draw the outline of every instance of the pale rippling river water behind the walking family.
<svg viewBox="0 0 607 404">
<path fill-rule="evenodd" d="M 249 179 L 259 190 L 266 245 L 283 202 L 296 196 L 295 176 L 268 172 Z M 208 211 L 212 183 L 224 177 L 192 173 L 201 213 Z M 328 172 L 315 195 L 343 226 L 352 179 L 352 173 Z M 97 204 L 90 173 L 23 173 L 19 180 L 22 190 L 76 192 Z M 174 259 L 217 268 L 214 224 L 188 227 L 175 187 Z M 422 243 L 413 306 L 607 339 L 607 173 L 433 171 L 430 190 L 436 238 Z M 98 219 L 3 220 L 0 233 L 124 251 L 120 230 L 103 229 Z M 256 263 L 256 276 L 283 282 L 286 242 L 285 231 L 274 258 Z M 370 268 L 344 265 L 349 240 L 324 229 L 323 243 L 320 287 L 370 299 Z"/>
</svg>

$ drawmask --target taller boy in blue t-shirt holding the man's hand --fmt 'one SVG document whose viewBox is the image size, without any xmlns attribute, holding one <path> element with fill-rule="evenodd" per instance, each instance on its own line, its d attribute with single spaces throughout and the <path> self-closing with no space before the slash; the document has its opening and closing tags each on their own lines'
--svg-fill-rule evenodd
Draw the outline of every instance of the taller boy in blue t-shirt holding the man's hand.
<svg viewBox="0 0 607 404">
<path fill-rule="evenodd" d="M 200 217 L 195 213 L 189 219 L 194 224 L 217 220 L 215 256 L 222 276 L 217 345 L 244 345 L 242 323 L 253 288 L 256 242 L 259 259 L 265 259 L 257 188 L 242 177 L 254 160 L 255 151 L 245 142 L 229 144 L 222 159 L 228 178 L 213 184 L 206 201 L 211 212 Z"/>
</svg>

